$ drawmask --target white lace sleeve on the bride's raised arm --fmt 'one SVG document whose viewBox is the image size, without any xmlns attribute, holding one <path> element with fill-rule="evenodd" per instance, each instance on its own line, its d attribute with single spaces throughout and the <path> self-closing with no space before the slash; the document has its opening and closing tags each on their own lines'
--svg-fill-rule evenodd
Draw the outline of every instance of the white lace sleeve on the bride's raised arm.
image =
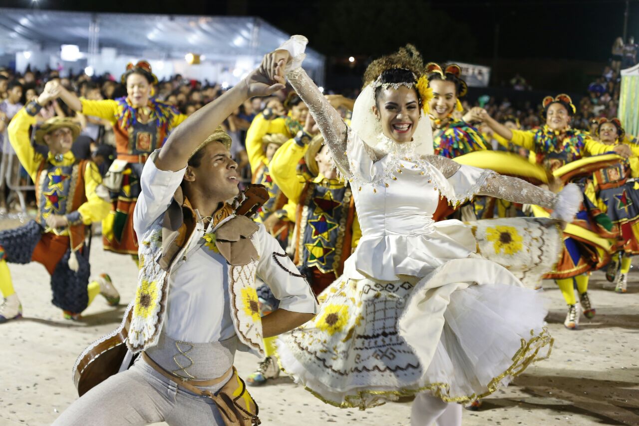
<svg viewBox="0 0 639 426">
<path fill-rule="evenodd" d="M 286 78 L 300 98 L 304 100 L 306 106 L 309 107 L 313 119 L 318 123 L 319 131 L 328 145 L 335 166 L 344 176 L 349 176 L 350 169 L 346 159 L 348 127 L 346 127 L 341 115 L 322 95 L 304 68 L 300 67 L 287 72 Z"/>
</svg>

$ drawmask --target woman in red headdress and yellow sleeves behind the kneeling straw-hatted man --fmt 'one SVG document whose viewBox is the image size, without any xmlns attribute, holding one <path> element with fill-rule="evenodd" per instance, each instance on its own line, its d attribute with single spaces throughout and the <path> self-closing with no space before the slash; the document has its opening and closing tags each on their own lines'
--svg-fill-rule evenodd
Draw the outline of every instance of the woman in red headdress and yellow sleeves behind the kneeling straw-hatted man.
<svg viewBox="0 0 639 426">
<path fill-rule="evenodd" d="M 111 213 L 102 223 L 104 248 L 116 253 L 128 253 L 137 258 L 137 237 L 133 230 L 133 210 L 140 194 L 140 175 L 151 152 L 160 148 L 169 132 L 187 118 L 176 107 L 152 96 L 157 77 L 146 61 L 129 63 L 121 77 L 127 86 L 127 97 L 119 99 L 78 99 L 75 94 L 60 89 L 60 97 L 73 110 L 109 120 L 118 148 L 104 179 L 111 191 Z M 117 125 L 116 125 L 117 124 Z"/>
</svg>

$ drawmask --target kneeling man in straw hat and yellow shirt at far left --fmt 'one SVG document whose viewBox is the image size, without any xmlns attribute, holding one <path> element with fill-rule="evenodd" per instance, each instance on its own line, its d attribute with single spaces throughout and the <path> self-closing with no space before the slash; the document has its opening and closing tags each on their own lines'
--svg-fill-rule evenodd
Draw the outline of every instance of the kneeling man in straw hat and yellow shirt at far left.
<svg viewBox="0 0 639 426">
<path fill-rule="evenodd" d="M 111 306 L 119 303 L 118 291 L 108 275 L 89 283 L 86 226 L 109 214 L 109 196 L 96 165 L 77 160 L 71 152 L 80 127 L 68 118 L 54 117 L 35 130 L 36 143 L 49 148 L 46 157 L 35 151 L 29 139 L 36 114 L 56 97 L 51 88 L 47 86 L 38 100 L 20 109 L 9 125 L 13 149 L 36 183 L 38 216 L 20 228 L 0 232 L 0 291 L 5 298 L 0 322 L 22 316 L 6 262 L 43 264 L 51 275 L 53 304 L 63 310 L 66 319 L 79 319 L 98 293 Z"/>
</svg>

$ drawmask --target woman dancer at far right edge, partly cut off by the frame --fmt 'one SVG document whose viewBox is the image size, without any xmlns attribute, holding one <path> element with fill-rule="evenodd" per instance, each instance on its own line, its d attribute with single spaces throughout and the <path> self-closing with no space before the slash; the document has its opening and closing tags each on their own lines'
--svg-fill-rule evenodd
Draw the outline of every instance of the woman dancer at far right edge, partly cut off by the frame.
<svg viewBox="0 0 639 426">
<path fill-rule="evenodd" d="M 635 189 L 635 179 L 630 177 L 630 172 L 633 177 L 639 176 L 639 164 L 635 159 L 639 154 L 639 145 L 626 139 L 619 118 L 600 118 L 598 125 L 599 141 L 613 146 L 624 143 L 633 150 L 630 170 L 627 164 L 622 163 L 597 170 L 592 180 L 593 191 L 589 193 L 592 197 L 585 199 L 590 215 L 597 221 L 598 233 L 617 241 L 614 257 L 621 258 L 621 269 L 616 276 L 615 291 L 625 293 L 630 256 L 639 254 L 639 191 Z"/>
</svg>

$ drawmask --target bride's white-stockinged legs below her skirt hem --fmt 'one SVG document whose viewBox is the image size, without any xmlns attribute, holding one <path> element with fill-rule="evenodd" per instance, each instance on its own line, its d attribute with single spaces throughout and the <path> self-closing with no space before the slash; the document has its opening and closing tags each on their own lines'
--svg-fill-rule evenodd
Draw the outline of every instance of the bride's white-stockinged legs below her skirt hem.
<svg viewBox="0 0 639 426">
<path fill-rule="evenodd" d="M 461 405 L 443 402 L 427 393 L 415 396 L 410 409 L 411 426 L 461 426 Z"/>
</svg>

